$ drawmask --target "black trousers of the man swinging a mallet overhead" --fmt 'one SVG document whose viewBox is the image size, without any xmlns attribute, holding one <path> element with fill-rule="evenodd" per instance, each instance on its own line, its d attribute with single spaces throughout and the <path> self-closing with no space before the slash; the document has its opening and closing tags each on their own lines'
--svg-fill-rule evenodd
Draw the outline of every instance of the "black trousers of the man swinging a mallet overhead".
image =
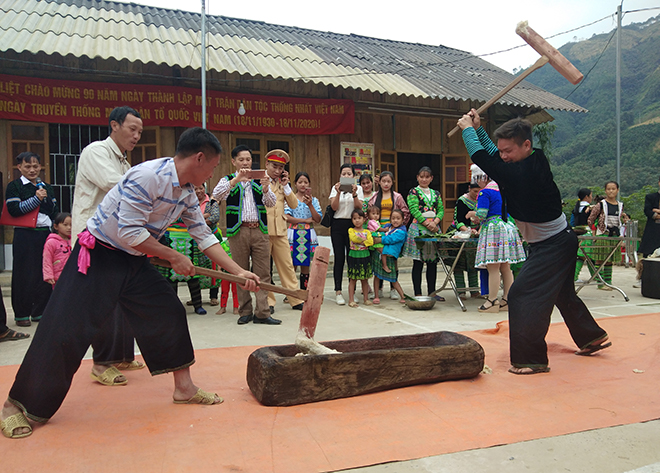
<svg viewBox="0 0 660 473">
<path fill-rule="evenodd" d="M 578 347 L 605 335 L 575 294 L 578 239 L 567 228 L 529 245 L 529 256 L 509 291 L 509 340 L 515 367 L 547 366 L 545 336 L 556 305 Z"/>
</svg>

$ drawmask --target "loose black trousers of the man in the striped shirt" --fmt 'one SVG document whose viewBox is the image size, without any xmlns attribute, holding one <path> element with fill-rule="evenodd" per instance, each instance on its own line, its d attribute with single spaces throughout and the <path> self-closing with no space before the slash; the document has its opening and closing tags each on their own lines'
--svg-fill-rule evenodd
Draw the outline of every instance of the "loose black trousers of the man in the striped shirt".
<svg viewBox="0 0 660 473">
<path fill-rule="evenodd" d="M 112 330 L 117 305 L 152 375 L 195 362 L 185 308 L 148 258 L 97 241 L 84 275 L 79 251 L 76 243 L 9 392 L 9 400 L 38 422 L 57 412 L 92 340 Z"/>
</svg>

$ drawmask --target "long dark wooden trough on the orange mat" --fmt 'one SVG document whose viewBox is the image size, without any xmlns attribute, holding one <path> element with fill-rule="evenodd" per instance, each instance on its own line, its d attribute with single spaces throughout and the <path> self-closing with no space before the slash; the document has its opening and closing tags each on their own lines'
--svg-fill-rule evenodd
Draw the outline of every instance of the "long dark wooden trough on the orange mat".
<svg viewBox="0 0 660 473">
<path fill-rule="evenodd" d="M 295 345 L 263 347 L 248 358 L 247 383 L 265 406 L 293 406 L 415 384 L 474 378 L 484 350 L 454 332 L 323 342 L 332 355 L 295 356 Z"/>
</svg>

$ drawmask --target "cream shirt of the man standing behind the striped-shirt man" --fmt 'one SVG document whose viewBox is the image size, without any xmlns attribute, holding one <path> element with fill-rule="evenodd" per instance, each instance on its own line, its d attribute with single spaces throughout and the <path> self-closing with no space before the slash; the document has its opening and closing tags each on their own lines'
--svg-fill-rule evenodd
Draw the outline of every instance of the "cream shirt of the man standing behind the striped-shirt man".
<svg viewBox="0 0 660 473">
<path fill-rule="evenodd" d="M 130 168 L 126 156 L 110 137 L 85 146 L 76 173 L 76 191 L 71 209 L 71 245 L 75 245 L 78 233 L 85 229 L 87 220 L 94 215 L 103 197 Z"/>
</svg>

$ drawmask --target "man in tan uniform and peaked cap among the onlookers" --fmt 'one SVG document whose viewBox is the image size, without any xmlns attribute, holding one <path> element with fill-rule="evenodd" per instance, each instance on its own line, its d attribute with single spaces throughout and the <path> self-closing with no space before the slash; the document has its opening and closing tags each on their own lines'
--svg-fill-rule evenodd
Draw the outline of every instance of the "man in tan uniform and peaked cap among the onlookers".
<svg viewBox="0 0 660 473">
<path fill-rule="evenodd" d="M 298 207 L 298 199 L 289 185 L 289 173 L 284 166 L 289 162 L 289 155 L 281 149 L 274 149 L 266 154 L 266 172 L 270 178 L 270 190 L 277 197 L 275 206 L 268 207 L 268 239 L 270 240 L 270 255 L 280 275 L 280 283 L 287 289 L 297 289 L 296 271 L 291 259 L 291 246 L 287 237 L 287 222 L 284 214 L 284 201 L 289 207 Z M 303 301 L 288 296 L 292 309 L 302 310 Z M 275 295 L 268 293 L 268 306 L 271 313 L 275 311 Z"/>
</svg>

